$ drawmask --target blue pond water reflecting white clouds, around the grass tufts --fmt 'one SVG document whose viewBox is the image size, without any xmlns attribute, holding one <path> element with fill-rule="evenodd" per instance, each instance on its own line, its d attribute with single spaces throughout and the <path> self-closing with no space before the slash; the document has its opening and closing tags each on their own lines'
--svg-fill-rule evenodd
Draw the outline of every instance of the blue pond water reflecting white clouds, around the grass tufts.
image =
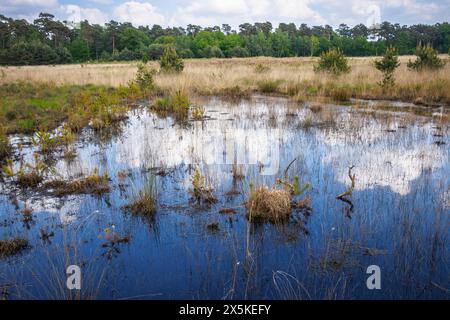
<svg viewBox="0 0 450 320">
<path fill-rule="evenodd" d="M 0 259 L 0 294 L 448 299 L 450 138 L 440 121 L 448 111 L 353 104 L 211 99 L 203 121 L 179 124 L 139 108 L 111 132 L 87 128 L 75 143 L 77 157 L 56 160 L 54 171 L 72 179 L 107 170 L 111 191 L 59 198 L 4 181 L 0 239 L 21 236 L 30 248 Z M 13 139 L 16 158 L 31 161 L 27 140 Z M 249 225 L 249 184 L 271 186 L 295 158 L 289 175 L 311 184 L 298 200 L 309 197 L 312 210 L 284 225 Z M 233 178 L 233 164 L 244 178 Z M 336 199 L 350 186 L 349 166 L 356 175 L 351 203 Z M 196 168 L 218 198 L 210 207 L 192 203 Z M 152 176 L 154 217 L 124 211 Z M 25 206 L 33 209 L 28 221 Z M 236 213 L 219 213 L 223 208 Z M 113 243 L 112 234 L 129 241 Z M 72 264 L 82 270 L 81 292 L 66 288 Z M 380 290 L 367 289 L 370 265 L 380 267 Z"/>
</svg>

